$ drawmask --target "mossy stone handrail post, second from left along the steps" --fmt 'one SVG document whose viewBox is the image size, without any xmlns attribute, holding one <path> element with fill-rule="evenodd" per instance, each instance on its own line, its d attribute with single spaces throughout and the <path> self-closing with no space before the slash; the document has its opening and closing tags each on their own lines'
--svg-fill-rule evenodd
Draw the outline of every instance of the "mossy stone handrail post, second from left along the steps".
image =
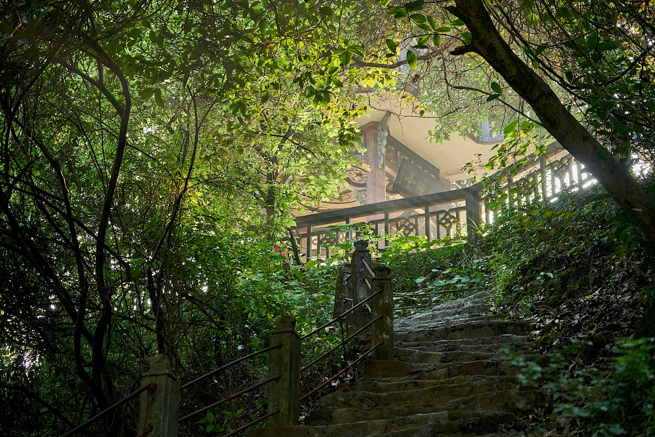
<svg viewBox="0 0 655 437">
<path fill-rule="evenodd" d="M 275 322 L 271 346 L 282 347 L 269 352 L 269 378 L 280 377 L 269 384 L 269 413 L 279 410 L 267 421 L 267 427 L 298 425 L 300 415 L 300 336 L 295 331 L 295 318 L 282 316 Z"/>
</svg>

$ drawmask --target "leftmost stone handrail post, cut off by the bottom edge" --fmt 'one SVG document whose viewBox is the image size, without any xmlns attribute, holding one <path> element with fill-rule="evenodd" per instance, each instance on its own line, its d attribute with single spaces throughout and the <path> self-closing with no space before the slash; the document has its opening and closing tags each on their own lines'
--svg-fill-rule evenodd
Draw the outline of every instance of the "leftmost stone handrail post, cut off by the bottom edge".
<svg viewBox="0 0 655 437">
<path fill-rule="evenodd" d="M 145 358 L 150 370 L 143 373 L 141 387 L 155 386 L 141 393 L 139 437 L 176 437 L 178 435 L 179 383 L 170 358 L 160 354 Z"/>
</svg>

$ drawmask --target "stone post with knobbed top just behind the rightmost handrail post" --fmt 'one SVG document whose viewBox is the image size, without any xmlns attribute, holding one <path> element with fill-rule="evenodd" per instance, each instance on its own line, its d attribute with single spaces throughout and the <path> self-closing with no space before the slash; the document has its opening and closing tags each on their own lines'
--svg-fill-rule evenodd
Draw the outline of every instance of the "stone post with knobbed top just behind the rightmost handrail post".
<svg viewBox="0 0 655 437">
<path fill-rule="evenodd" d="M 350 287 L 352 290 L 353 306 L 371 295 L 366 283 L 364 282 L 367 273 L 364 263 L 371 265 L 371 254 L 367 247 L 368 242 L 357 240 L 355 242 L 355 251 L 352 252 L 352 256 L 350 257 Z M 349 332 L 355 332 L 370 321 L 371 313 L 369 313 L 364 305 L 348 314 L 346 317 Z M 360 337 L 361 339 L 364 339 L 365 336 L 366 333 L 364 332 Z"/>
</svg>

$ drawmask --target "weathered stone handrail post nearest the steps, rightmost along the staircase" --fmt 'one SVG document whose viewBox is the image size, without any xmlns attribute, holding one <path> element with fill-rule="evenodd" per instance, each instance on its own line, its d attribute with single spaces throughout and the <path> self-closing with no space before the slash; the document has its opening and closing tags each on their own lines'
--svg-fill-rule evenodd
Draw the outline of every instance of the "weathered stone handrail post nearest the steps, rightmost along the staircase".
<svg viewBox="0 0 655 437">
<path fill-rule="evenodd" d="M 373 324 L 372 344 L 383 341 L 383 344 L 375 349 L 373 358 L 375 360 L 394 359 L 394 294 L 391 288 L 390 269 L 385 265 L 373 267 L 373 293 L 382 290 L 382 293 L 373 297 L 373 318 L 382 315 L 380 320 Z"/>
</svg>

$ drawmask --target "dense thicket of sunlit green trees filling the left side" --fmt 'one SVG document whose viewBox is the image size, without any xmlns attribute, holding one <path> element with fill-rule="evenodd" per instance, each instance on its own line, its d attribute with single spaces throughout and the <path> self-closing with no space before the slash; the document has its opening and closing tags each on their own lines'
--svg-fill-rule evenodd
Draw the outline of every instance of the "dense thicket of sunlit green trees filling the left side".
<svg viewBox="0 0 655 437">
<path fill-rule="evenodd" d="M 361 48 L 330 2 L 1 10 L 0 389 L 62 412 L 64 430 L 134 389 L 145 356 L 189 375 L 229 358 L 181 332 L 220 345 L 298 311 L 264 280 L 242 293 L 281 264 L 250 227 L 274 242 L 291 206 L 335 193 L 362 111 L 342 61 Z M 120 410 L 109 423 L 130 434 Z"/>
</svg>

